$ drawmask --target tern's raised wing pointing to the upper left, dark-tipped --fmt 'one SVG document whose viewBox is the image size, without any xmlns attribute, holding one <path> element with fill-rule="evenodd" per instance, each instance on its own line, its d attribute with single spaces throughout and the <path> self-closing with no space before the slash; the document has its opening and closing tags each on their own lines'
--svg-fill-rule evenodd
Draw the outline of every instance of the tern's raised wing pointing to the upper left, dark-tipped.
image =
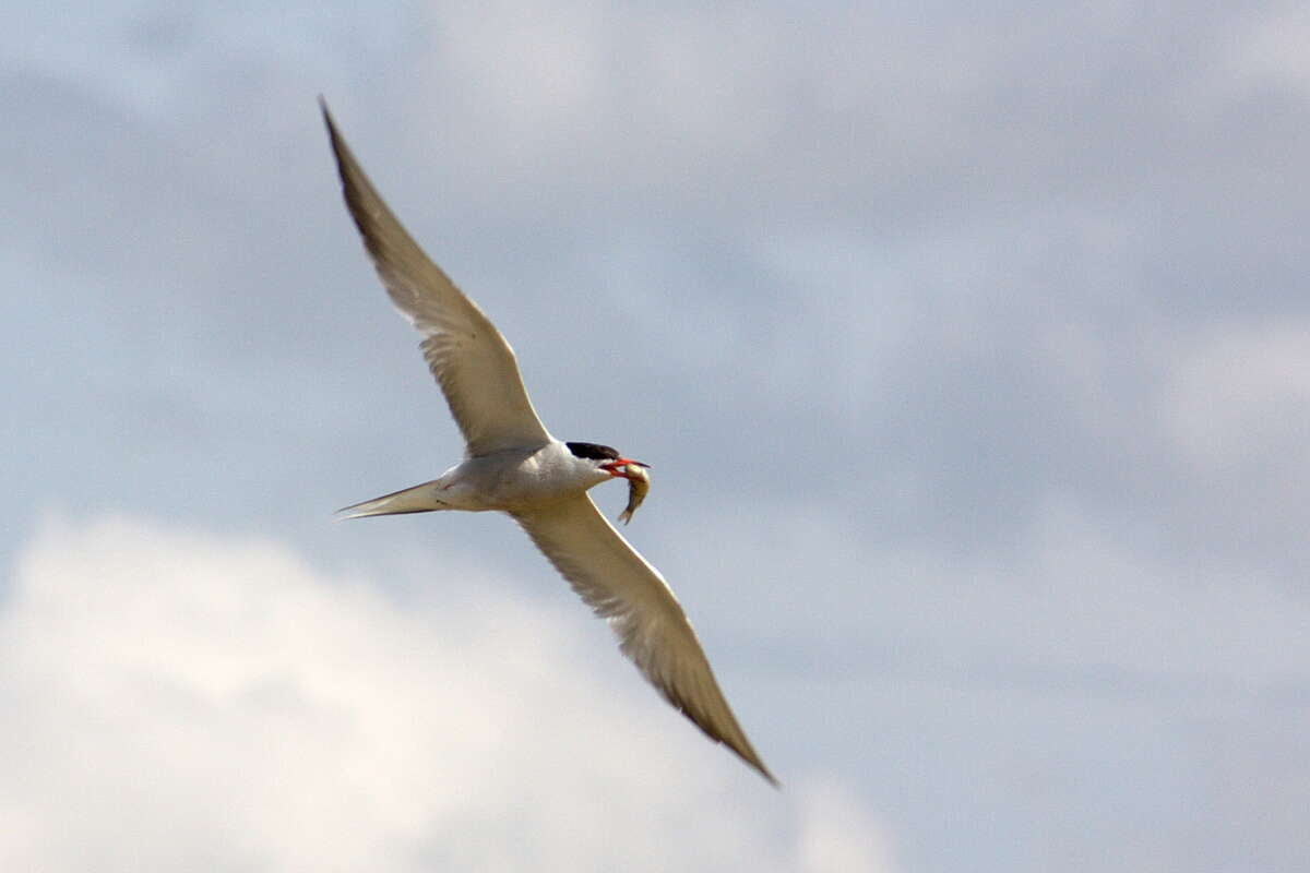
<svg viewBox="0 0 1310 873">
<path fill-rule="evenodd" d="M 500 331 L 414 242 L 322 105 L 346 205 L 386 293 L 423 335 L 421 344 L 470 457 L 550 441 Z"/>
</svg>

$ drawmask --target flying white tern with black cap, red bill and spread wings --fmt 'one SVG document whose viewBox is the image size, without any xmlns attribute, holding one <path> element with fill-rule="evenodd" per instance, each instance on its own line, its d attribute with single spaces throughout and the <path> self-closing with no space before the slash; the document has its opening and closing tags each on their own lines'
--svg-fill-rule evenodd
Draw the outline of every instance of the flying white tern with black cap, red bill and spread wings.
<svg viewBox="0 0 1310 873">
<path fill-rule="evenodd" d="M 537 418 L 514 349 L 432 263 L 324 120 L 342 191 L 392 302 L 423 334 L 421 348 L 458 425 L 464 461 L 438 479 L 342 509 L 348 518 L 438 509 L 508 513 L 597 615 L 664 698 L 711 739 L 777 785 L 738 725 L 664 577 L 600 514 L 587 490 L 642 478 L 646 465 L 592 442 L 561 442 Z"/>
</svg>

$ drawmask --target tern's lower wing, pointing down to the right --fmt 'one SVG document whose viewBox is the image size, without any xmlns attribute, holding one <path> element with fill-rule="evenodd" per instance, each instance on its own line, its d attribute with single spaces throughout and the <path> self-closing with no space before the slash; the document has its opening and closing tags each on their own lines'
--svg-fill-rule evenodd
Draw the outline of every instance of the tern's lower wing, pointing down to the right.
<svg viewBox="0 0 1310 873">
<path fill-rule="evenodd" d="M 711 739 L 777 784 L 732 716 L 664 577 L 627 544 L 591 497 L 512 514 L 583 601 L 609 620 L 624 654 L 651 685 Z"/>
</svg>

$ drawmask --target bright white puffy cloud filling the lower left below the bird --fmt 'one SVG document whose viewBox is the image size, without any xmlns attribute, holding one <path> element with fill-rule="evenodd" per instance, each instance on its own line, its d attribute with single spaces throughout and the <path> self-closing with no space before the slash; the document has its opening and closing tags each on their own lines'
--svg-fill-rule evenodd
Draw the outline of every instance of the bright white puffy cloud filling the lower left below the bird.
<svg viewBox="0 0 1310 873">
<path fill-rule="evenodd" d="M 844 788 L 773 793 L 444 569 L 397 602 L 275 542 L 46 525 L 0 613 L 0 866 L 887 869 Z"/>
</svg>

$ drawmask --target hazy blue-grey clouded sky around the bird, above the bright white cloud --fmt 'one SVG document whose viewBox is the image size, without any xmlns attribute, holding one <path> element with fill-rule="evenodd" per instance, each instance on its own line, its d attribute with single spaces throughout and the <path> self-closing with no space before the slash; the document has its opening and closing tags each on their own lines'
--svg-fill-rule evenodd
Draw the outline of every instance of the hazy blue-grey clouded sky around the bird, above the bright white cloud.
<svg viewBox="0 0 1310 873">
<path fill-rule="evenodd" d="M 460 446 L 324 92 L 552 427 L 655 465 L 631 535 L 787 711 L 761 746 L 852 774 L 907 866 L 1303 856 L 1252 788 L 1310 771 L 1256 750 L 1306 681 L 1297 8 L 26 17 L 14 517 L 567 602 L 502 520 L 326 524 Z"/>
</svg>

